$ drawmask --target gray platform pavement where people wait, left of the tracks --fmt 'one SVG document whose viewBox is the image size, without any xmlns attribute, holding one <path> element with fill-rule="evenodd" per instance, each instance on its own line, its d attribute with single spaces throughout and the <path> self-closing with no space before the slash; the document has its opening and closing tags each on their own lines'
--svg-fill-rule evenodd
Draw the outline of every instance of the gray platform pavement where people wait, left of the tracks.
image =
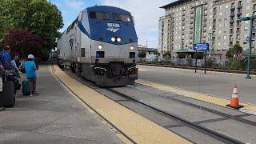
<svg viewBox="0 0 256 144">
<path fill-rule="evenodd" d="M 16 98 L 0 111 L 0 143 L 122 143 L 54 78 L 49 66 L 38 72 L 33 98 Z"/>
</svg>

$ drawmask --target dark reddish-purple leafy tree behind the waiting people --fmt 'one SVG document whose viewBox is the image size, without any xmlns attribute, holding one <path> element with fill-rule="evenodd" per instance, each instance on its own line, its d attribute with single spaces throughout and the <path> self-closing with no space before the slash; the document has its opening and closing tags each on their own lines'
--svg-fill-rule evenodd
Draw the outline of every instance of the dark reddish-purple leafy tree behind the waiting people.
<svg viewBox="0 0 256 144">
<path fill-rule="evenodd" d="M 22 29 L 8 30 L 4 42 L 10 46 L 12 52 L 21 54 L 22 57 L 27 54 L 39 55 L 42 48 L 42 38 Z"/>
</svg>

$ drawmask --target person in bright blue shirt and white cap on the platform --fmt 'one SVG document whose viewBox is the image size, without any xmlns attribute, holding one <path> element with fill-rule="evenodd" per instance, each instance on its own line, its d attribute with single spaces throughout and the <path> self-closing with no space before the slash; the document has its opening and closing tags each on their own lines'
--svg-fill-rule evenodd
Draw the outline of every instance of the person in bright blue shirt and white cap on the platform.
<svg viewBox="0 0 256 144">
<path fill-rule="evenodd" d="M 37 67 L 34 62 L 34 55 L 29 54 L 27 57 L 26 62 L 23 64 L 23 68 L 26 71 L 26 78 L 29 82 L 30 86 L 30 97 L 35 95 L 35 89 L 36 89 L 36 78 L 37 74 L 35 70 L 37 70 Z"/>
</svg>

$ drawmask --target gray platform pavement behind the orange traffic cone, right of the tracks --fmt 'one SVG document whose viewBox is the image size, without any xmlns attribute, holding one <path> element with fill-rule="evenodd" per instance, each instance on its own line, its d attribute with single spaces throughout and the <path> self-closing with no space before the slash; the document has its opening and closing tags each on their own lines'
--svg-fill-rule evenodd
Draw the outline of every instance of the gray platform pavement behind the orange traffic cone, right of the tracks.
<svg viewBox="0 0 256 144">
<path fill-rule="evenodd" d="M 185 90 L 210 94 L 219 98 L 231 98 L 233 83 L 238 84 L 239 100 L 256 104 L 256 78 L 246 75 L 207 73 L 194 70 L 172 69 L 155 66 L 138 66 L 138 78 L 179 87 Z"/>
</svg>

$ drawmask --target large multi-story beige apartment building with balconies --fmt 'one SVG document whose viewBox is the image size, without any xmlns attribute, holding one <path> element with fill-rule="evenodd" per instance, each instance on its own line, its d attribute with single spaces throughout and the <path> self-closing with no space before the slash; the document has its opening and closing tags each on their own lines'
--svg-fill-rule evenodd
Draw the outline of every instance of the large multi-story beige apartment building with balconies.
<svg viewBox="0 0 256 144">
<path fill-rule="evenodd" d="M 256 0 L 178 0 L 161 8 L 166 15 L 159 19 L 159 52 L 193 52 L 194 43 L 209 42 L 210 54 L 225 59 L 235 43 L 248 49 L 250 22 L 241 18 L 256 14 Z"/>
</svg>

